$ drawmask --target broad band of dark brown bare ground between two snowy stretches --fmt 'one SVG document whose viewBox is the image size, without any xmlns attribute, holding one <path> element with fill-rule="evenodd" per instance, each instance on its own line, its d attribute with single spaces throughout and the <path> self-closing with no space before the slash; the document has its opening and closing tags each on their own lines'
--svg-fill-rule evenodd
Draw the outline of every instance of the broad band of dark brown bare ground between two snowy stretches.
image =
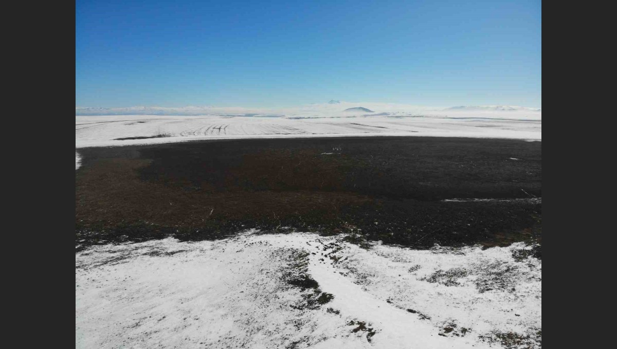
<svg viewBox="0 0 617 349">
<path fill-rule="evenodd" d="M 249 228 L 415 248 L 541 242 L 541 142 L 242 139 L 78 152 L 81 247 Z M 502 200 L 443 201 L 488 198 Z"/>
</svg>

